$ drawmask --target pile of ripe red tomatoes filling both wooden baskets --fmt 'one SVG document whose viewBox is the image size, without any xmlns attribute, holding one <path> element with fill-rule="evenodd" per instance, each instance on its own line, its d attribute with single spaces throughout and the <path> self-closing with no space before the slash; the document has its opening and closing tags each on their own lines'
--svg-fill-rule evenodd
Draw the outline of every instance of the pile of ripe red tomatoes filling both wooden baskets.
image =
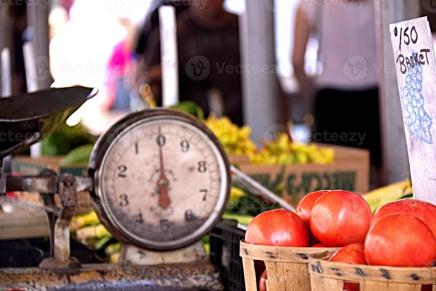
<svg viewBox="0 0 436 291">
<path fill-rule="evenodd" d="M 436 206 L 402 199 L 372 216 L 358 194 L 342 190 L 307 194 L 296 211 L 276 209 L 256 216 L 245 242 L 267 246 L 341 247 L 329 260 L 347 264 L 433 267 L 436 260 Z M 263 271 L 259 290 L 266 290 Z M 423 286 L 422 290 L 431 290 Z M 346 282 L 344 291 L 358 291 Z"/>
</svg>

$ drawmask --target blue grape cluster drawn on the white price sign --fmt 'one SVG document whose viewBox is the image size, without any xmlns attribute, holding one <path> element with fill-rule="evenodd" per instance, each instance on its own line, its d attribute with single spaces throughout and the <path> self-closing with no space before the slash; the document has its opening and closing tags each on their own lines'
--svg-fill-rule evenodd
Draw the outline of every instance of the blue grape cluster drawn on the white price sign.
<svg viewBox="0 0 436 291">
<path fill-rule="evenodd" d="M 414 54 L 415 55 L 415 54 Z M 419 141 L 433 144 L 430 128 L 433 118 L 424 108 L 422 97 L 422 65 L 417 62 L 407 71 L 405 86 L 403 87 L 403 106 L 405 109 L 405 123 L 411 135 Z"/>
</svg>

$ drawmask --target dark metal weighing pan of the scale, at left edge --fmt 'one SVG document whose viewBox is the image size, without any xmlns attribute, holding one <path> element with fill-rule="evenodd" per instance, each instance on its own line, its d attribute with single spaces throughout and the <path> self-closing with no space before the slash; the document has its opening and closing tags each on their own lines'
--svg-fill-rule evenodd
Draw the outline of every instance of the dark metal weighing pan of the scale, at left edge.
<svg viewBox="0 0 436 291">
<path fill-rule="evenodd" d="M 56 130 L 97 92 L 74 86 L 0 98 L 0 158 L 26 149 Z"/>
</svg>

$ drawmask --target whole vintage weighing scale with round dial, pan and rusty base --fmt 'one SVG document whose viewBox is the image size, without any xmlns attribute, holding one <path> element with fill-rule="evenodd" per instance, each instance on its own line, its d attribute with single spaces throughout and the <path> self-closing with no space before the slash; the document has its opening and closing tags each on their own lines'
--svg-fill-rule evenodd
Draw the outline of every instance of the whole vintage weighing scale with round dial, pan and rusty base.
<svg viewBox="0 0 436 291">
<path fill-rule="evenodd" d="M 54 131 L 96 93 L 76 86 L 0 99 L 0 133 L 25 137 L 2 142 L 0 162 Z M 201 238 L 225 211 L 231 173 L 203 123 L 177 110 L 131 113 L 99 138 L 88 172 L 14 177 L 0 170 L 1 195 L 40 193 L 51 243 L 51 257 L 39 268 L 1 270 L 0 289 L 223 290 Z M 78 191 L 91 193 L 100 221 L 123 242 L 119 262 L 82 266 L 70 257 Z M 58 206 L 51 203 L 55 194 Z"/>
</svg>

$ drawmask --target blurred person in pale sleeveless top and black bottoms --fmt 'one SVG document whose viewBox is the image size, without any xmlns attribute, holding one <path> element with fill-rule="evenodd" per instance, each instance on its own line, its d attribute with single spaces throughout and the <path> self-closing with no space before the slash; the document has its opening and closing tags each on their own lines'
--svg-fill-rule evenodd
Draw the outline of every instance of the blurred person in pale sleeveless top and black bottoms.
<svg viewBox="0 0 436 291">
<path fill-rule="evenodd" d="M 313 139 L 367 148 L 378 167 L 380 66 L 376 61 L 374 0 L 300 1 L 292 62 L 300 93 L 307 102 L 316 90 Z M 319 39 L 318 59 L 322 67 L 313 80 L 304 70 L 311 34 Z"/>
</svg>

